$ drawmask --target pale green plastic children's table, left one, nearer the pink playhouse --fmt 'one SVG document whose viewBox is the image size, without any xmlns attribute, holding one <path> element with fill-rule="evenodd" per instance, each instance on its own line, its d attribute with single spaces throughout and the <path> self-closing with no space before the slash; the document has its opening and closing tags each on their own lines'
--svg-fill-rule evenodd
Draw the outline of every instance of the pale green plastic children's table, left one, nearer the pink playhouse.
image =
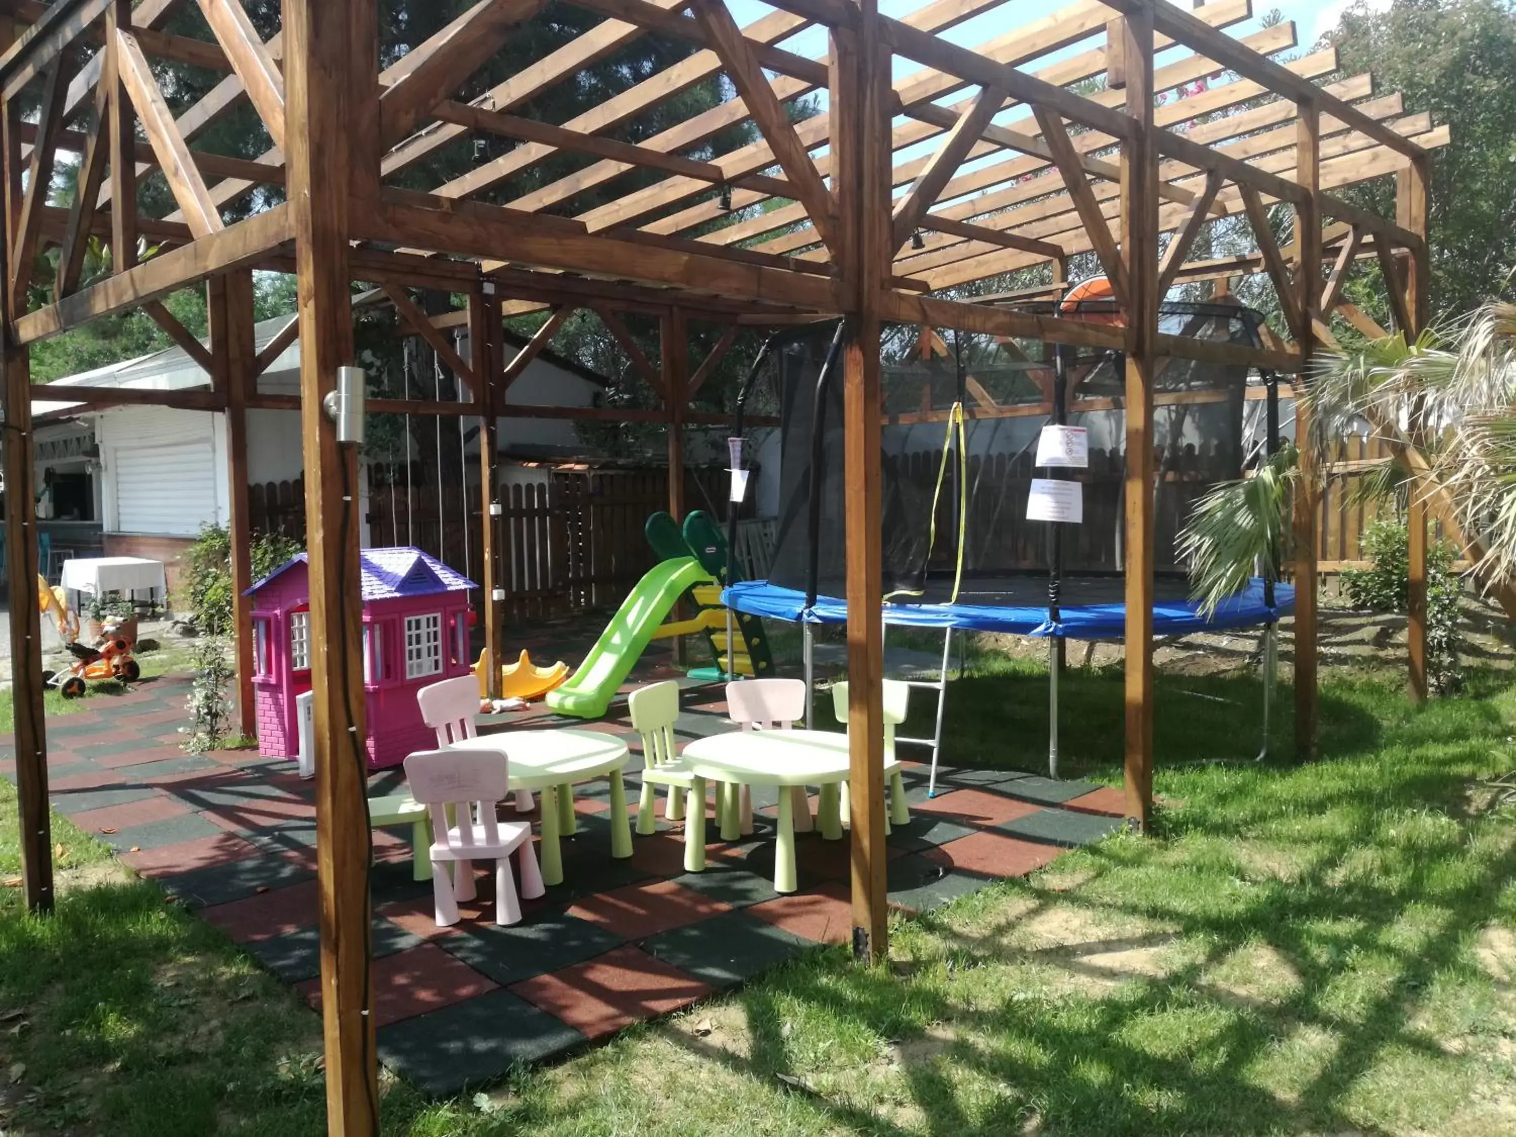
<svg viewBox="0 0 1516 1137">
<path fill-rule="evenodd" d="M 562 884 L 561 834 L 573 834 L 575 782 L 608 778 L 611 782 L 611 857 L 632 855 L 632 825 L 626 813 L 622 769 L 628 749 L 620 738 L 599 731 L 505 731 L 461 738 L 449 750 L 505 750 L 511 790 L 534 790 L 541 797 L 543 884 Z"/>
</svg>

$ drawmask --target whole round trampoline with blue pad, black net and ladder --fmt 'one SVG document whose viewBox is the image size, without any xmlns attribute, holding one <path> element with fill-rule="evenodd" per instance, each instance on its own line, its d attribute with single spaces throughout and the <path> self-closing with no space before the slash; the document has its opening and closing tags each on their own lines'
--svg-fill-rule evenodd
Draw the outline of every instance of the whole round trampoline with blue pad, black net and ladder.
<svg viewBox="0 0 1516 1137">
<path fill-rule="evenodd" d="M 1020 303 L 1043 317 L 1119 323 L 1110 300 Z M 1160 332 L 1257 347 L 1263 317 L 1229 302 L 1164 303 Z M 840 355 L 844 329 L 787 329 L 753 362 L 737 405 L 767 381 L 779 412 L 779 512 L 769 579 L 728 567 L 729 609 L 799 623 L 805 679 L 814 687 L 813 632 L 847 620 L 846 484 Z M 1119 350 L 888 326 L 882 343 L 882 579 L 885 628 L 941 629 L 941 669 L 914 687 L 937 694 L 931 791 L 941 752 L 955 634 L 1008 632 L 1049 641 L 1049 773 L 1058 776 L 1058 676 L 1064 640 L 1125 635 L 1125 359 Z M 1278 584 L 1278 550 L 1246 588 L 1202 611 L 1190 597 L 1178 535 L 1190 506 L 1280 444 L 1278 391 L 1269 373 L 1214 361 L 1160 358 L 1152 377 L 1154 635 L 1263 629 L 1264 743 L 1275 672 L 1275 625 L 1295 593 Z M 1046 426 L 1084 428 L 1078 468 L 1038 465 Z M 741 446 L 734 446 L 734 468 Z M 1079 523 L 1028 518 L 1034 481 L 1078 482 Z M 1055 487 L 1057 488 L 1057 487 Z M 1038 493 L 1046 493 L 1038 485 Z M 1063 491 L 1070 491 L 1063 487 Z M 735 511 L 729 514 L 735 526 Z M 734 537 L 734 534 L 729 534 Z M 728 541 L 735 546 L 734 540 Z"/>
</svg>

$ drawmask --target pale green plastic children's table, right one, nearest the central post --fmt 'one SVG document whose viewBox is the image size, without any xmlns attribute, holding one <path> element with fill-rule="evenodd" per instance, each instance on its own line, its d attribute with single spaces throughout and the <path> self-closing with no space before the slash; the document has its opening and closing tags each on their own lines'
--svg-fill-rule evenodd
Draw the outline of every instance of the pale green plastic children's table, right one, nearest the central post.
<svg viewBox="0 0 1516 1137">
<path fill-rule="evenodd" d="M 847 758 L 847 735 L 835 731 L 737 731 L 697 738 L 684 747 L 684 766 L 693 775 L 691 810 L 684 828 L 685 867 L 705 869 L 705 779 L 734 785 L 788 787 L 819 785 L 822 800 L 817 808 L 822 837 L 837 840 L 841 832 L 840 785 L 852 773 Z M 884 773 L 890 776 L 901 763 L 887 755 Z M 720 800 L 722 796 L 719 796 Z M 722 810 L 722 840 L 737 840 L 737 794 L 725 794 Z M 697 867 L 696 867 L 697 866 Z M 790 793 L 779 794 L 779 838 L 773 858 L 775 891 L 796 890 L 794 872 L 794 803 Z"/>
</svg>

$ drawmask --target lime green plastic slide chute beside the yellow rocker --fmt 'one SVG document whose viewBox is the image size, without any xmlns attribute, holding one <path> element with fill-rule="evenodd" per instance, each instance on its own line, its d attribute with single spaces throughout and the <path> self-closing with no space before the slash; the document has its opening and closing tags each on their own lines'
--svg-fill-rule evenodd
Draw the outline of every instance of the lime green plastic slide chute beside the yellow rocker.
<svg viewBox="0 0 1516 1137">
<path fill-rule="evenodd" d="M 562 687 L 547 693 L 547 706 L 578 719 L 599 719 L 605 714 L 617 688 L 631 675 L 658 625 L 679 597 L 690 587 L 711 581 L 711 575 L 693 556 L 678 556 L 653 565 L 611 617 L 579 670 Z"/>
</svg>

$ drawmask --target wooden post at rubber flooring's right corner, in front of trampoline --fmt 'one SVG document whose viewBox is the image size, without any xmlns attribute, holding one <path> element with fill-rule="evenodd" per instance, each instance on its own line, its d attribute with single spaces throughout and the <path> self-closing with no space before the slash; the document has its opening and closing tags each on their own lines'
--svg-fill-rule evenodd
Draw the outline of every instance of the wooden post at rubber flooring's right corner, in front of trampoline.
<svg viewBox="0 0 1516 1137">
<path fill-rule="evenodd" d="M 1126 274 L 1126 820 L 1152 819 L 1154 337 L 1158 332 L 1158 158 L 1152 146 L 1152 9 L 1122 18 L 1126 117 L 1122 265 Z M 1081 174 L 1082 177 L 1082 174 Z"/>
</svg>

